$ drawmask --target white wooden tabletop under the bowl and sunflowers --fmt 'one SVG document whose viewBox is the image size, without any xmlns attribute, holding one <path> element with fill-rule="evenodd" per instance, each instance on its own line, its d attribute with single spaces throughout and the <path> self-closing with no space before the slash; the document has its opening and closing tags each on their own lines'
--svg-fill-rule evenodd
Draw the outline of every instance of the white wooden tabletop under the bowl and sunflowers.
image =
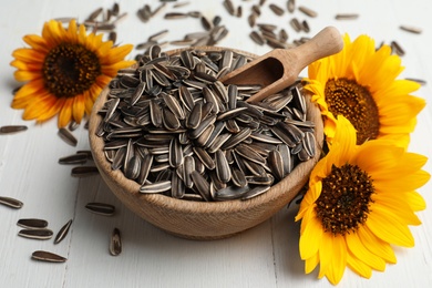
<svg viewBox="0 0 432 288">
<path fill-rule="evenodd" d="M 76 147 L 65 144 L 56 135 L 56 122 L 43 125 L 21 120 L 22 111 L 12 110 L 11 91 L 17 86 L 14 69 L 9 65 L 14 49 L 23 47 L 22 37 L 40 34 L 44 21 L 60 17 L 86 18 L 99 7 L 109 9 L 113 1 L 88 0 L 1 0 L 0 9 L 0 125 L 24 124 L 29 130 L 13 135 L 0 135 L 0 195 L 21 199 L 24 207 L 14 210 L 0 206 L 0 287 L 329 287 L 327 279 L 317 279 L 318 270 L 304 274 L 298 253 L 299 224 L 294 222 L 296 208 L 282 209 L 271 219 L 236 237 L 215 241 L 193 241 L 168 235 L 128 212 L 109 191 L 99 176 L 71 177 L 72 166 L 58 160 L 78 150 L 89 150 L 88 131 L 74 131 Z M 258 0 L 233 0 L 243 6 L 243 17 L 229 16 L 218 1 L 191 0 L 178 11 L 200 11 L 213 18 L 220 16 L 229 34 L 219 45 L 263 54 L 269 47 L 256 45 L 248 37 L 247 16 Z M 290 39 L 310 37 L 325 25 L 336 25 L 352 39 L 367 33 L 390 43 L 397 40 L 405 50 L 401 78 L 418 78 L 428 82 L 415 95 L 432 96 L 432 18 L 429 0 L 297 0 L 318 12 L 308 18 L 296 11 L 276 17 L 268 9 L 270 2 L 285 8 L 286 1 L 268 0 L 263 7 L 260 22 L 286 28 Z M 173 11 L 168 4 L 147 23 L 136 17 L 144 3 L 152 8 L 158 1 L 119 1 L 127 18 L 117 25 L 120 43 L 137 44 L 148 35 L 169 29 L 165 40 L 178 40 L 185 33 L 203 30 L 196 19 L 164 21 L 163 14 Z M 359 13 L 357 20 L 337 21 L 337 13 Z M 310 33 L 297 34 L 288 21 L 306 19 Z M 401 24 L 423 29 L 412 34 L 399 29 Z M 134 50 L 132 59 L 138 51 Z M 306 75 L 306 71 L 301 75 Z M 419 115 L 412 134 L 410 151 L 432 156 L 432 106 Z M 431 162 L 424 167 L 432 172 Z M 420 189 L 428 205 L 432 205 L 432 182 Z M 89 202 L 104 202 L 116 206 L 113 217 L 89 213 Z M 423 224 L 412 227 L 415 247 L 395 248 L 397 265 L 388 265 L 384 272 L 374 271 L 363 279 L 346 270 L 341 287 L 425 287 L 432 284 L 432 209 L 418 214 Z M 31 240 L 19 237 L 16 225 L 20 218 L 44 218 L 54 232 L 73 218 L 68 237 L 60 244 L 52 240 Z M 109 237 L 114 227 L 123 236 L 123 253 L 109 254 Z M 30 259 L 32 251 L 47 249 L 68 257 L 65 264 L 47 264 Z"/>
</svg>

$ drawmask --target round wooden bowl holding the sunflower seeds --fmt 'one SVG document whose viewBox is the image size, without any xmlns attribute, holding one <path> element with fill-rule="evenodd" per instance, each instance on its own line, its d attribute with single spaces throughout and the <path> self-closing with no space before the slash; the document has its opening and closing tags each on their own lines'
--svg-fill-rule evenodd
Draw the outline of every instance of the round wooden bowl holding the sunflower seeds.
<svg viewBox="0 0 432 288">
<path fill-rule="evenodd" d="M 226 48 L 199 49 L 216 51 Z M 173 50 L 168 53 L 175 54 L 179 51 Z M 234 51 L 256 56 L 248 52 Z M 161 194 L 141 194 L 140 184 L 127 179 L 119 169 L 112 171 L 111 163 L 106 161 L 103 152 L 104 141 L 95 133 L 102 121 L 97 111 L 104 105 L 107 93 L 109 88 L 105 88 L 94 103 L 89 125 L 90 146 L 102 178 L 115 196 L 133 213 L 154 226 L 183 238 L 199 240 L 225 238 L 265 222 L 298 195 L 320 157 L 323 140 L 322 119 L 319 109 L 307 96 L 308 120 L 316 123 L 316 155 L 298 164 L 287 177 L 266 193 L 247 200 L 226 202 L 195 202 Z"/>
</svg>

